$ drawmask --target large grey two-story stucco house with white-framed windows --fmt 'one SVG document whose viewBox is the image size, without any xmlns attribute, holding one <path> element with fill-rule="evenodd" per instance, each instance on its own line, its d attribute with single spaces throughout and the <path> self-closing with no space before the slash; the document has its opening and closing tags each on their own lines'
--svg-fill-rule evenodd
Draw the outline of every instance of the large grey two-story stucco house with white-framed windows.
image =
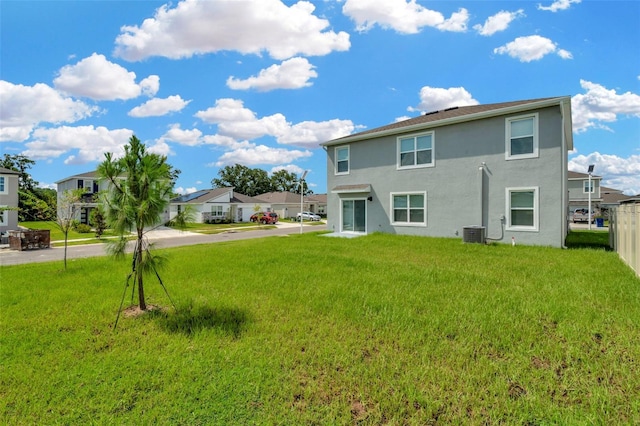
<svg viewBox="0 0 640 426">
<path fill-rule="evenodd" d="M 447 108 L 323 146 L 336 233 L 564 245 L 568 96 Z"/>
</svg>

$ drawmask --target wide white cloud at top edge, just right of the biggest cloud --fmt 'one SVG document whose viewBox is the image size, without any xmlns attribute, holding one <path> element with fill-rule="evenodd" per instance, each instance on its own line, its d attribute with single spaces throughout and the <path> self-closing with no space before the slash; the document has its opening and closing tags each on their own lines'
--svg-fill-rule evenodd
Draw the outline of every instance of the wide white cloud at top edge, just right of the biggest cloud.
<svg viewBox="0 0 640 426">
<path fill-rule="evenodd" d="M 427 9 L 415 0 L 347 0 L 342 13 L 350 17 L 358 31 L 368 31 L 376 24 L 402 34 L 416 34 L 423 27 L 442 31 L 466 31 L 469 13 L 454 12 L 447 20 L 442 13 Z"/>
</svg>

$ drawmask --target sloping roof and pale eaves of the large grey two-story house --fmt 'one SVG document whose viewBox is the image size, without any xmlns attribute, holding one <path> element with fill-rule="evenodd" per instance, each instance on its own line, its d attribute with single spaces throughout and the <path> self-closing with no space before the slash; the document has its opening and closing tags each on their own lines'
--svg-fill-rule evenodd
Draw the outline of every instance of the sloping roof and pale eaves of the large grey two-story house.
<svg viewBox="0 0 640 426">
<path fill-rule="evenodd" d="M 419 117 L 376 127 L 375 129 L 344 136 L 322 143 L 323 146 L 339 145 L 347 142 L 356 142 L 372 137 L 382 137 L 410 131 L 417 131 L 448 124 L 461 123 L 465 121 L 479 120 L 504 114 L 512 114 L 522 111 L 529 111 L 537 108 L 550 106 L 560 106 L 565 118 L 564 137 L 567 141 L 567 149 L 573 149 L 573 133 L 571 123 L 571 97 L 554 97 L 529 99 L 522 101 L 501 102 L 495 104 L 472 105 L 463 107 L 452 107 L 440 111 L 427 112 Z"/>
</svg>

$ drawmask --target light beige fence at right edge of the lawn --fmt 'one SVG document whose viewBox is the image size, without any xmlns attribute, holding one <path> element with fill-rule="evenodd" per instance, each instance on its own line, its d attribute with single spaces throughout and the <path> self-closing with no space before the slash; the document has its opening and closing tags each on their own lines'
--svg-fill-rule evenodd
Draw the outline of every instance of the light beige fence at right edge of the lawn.
<svg viewBox="0 0 640 426">
<path fill-rule="evenodd" d="M 609 243 L 640 276 L 640 200 L 634 199 L 613 208 Z"/>
</svg>

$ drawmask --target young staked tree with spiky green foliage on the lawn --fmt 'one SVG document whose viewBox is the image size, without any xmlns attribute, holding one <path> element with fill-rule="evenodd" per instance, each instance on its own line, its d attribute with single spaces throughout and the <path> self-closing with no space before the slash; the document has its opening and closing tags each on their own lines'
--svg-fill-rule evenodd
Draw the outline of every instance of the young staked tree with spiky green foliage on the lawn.
<svg viewBox="0 0 640 426">
<path fill-rule="evenodd" d="M 173 188 L 172 168 L 165 156 L 147 152 L 135 136 L 131 136 L 124 151 L 121 158 L 105 154 L 105 160 L 98 166 L 98 175 L 109 184 L 101 194 L 101 201 L 107 224 L 120 236 L 110 246 L 111 254 L 124 257 L 127 237 L 131 232 L 136 234 L 127 286 L 133 278 L 133 290 L 136 286 L 138 288 L 138 307 L 145 311 L 144 275 L 155 274 L 164 287 L 157 272 L 164 259 L 151 253 L 145 229 L 161 223 L 161 215 Z"/>
</svg>

